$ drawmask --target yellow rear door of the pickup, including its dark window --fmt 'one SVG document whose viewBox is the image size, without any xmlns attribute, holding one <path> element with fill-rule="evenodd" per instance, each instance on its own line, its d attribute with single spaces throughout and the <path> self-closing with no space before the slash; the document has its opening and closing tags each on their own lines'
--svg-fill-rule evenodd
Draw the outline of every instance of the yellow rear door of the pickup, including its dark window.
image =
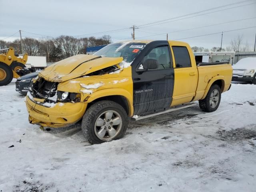
<svg viewBox="0 0 256 192">
<path fill-rule="evenodd" d="M 192 101 L 197 86 L 196 64 L 191 62 L 186 46 L 172 46 L 175 60 L 175 82 L 172 106 Z M 192 54 L 193 56 L 193 54 Z"/>
</svg>

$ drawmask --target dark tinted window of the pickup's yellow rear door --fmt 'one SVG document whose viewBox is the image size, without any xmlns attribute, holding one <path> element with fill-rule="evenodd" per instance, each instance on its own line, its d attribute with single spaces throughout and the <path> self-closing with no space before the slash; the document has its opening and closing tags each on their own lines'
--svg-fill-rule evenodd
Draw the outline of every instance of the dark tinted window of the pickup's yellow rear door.
<svg viewBox="0 0 256 192">
<path fill-rule="evenodd" d="M 191 67 L 191 60 L 186 47 L 172 46 L 176 68 Z"/>
</svg>

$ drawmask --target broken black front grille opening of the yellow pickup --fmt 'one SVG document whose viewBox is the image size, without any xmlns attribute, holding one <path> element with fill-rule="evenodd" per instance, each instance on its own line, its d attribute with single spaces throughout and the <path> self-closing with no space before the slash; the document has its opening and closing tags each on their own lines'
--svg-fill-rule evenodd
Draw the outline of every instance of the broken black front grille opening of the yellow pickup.
<svg viewBox="0 0 256 192">
<path fill-rule="evenodd" d="M 48 98 L 52 98 L 56 95 L 57 86 L 57 82 L 49 82 L 41 78 L 32 84 L 31 94 L 35 98 L 47 100 Z"/>
</svg>

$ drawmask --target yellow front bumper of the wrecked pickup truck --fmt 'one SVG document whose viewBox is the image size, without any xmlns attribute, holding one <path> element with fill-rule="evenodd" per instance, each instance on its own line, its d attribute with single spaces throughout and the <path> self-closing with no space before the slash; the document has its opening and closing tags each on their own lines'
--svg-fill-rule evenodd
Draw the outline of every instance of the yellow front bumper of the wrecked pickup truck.
<svg viewBox="0 0 256 192">
<path fill-rule="evenodd" d="M 84 115 L 87 103 L 56 103 L 46 107 L 26 96 L 29 122 L 45 127 L 60 128 L 78 122 Z"/>
</svg>

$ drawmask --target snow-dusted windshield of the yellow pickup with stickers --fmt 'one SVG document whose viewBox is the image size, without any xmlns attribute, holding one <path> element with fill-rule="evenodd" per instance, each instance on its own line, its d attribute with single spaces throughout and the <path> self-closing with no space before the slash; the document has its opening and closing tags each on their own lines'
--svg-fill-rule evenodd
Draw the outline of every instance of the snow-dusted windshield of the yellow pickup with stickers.
<svg viewBox="0 0 256 192">
<path fill-rule="evenodd" d="M 112 43 L 98 50 L 94 55 L 102 57 L 123 57 L 125 62 L 130 63 L 145 46 L 145 43 L 137 42 Z"/>
</svg>

